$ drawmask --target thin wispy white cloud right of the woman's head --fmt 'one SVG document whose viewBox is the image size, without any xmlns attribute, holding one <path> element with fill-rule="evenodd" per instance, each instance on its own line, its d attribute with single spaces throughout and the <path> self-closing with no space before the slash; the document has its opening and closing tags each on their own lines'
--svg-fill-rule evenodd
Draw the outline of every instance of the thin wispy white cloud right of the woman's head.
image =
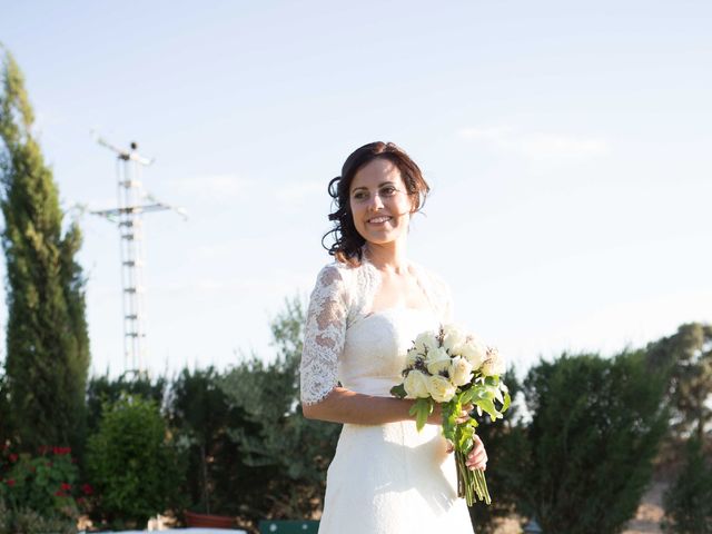
<svg viewBox="0 0 712 534">
<path fill-rule="evenodd" d="M 523 131 L 512 126 L 468 127 L 458 131 L 461 138 L 516 152 L 531 160 L 554 158 L 589 158 L 607 154 L 604 139 L 586 139 L 543 131 Z"/>
</svg>

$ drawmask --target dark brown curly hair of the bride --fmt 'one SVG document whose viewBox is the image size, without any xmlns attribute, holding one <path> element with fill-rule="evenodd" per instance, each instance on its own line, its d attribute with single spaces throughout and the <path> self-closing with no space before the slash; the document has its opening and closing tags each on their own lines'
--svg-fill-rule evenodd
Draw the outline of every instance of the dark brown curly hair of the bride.
<svg viewBox="0 0 712 534">
<path fill-rule="evenodd" d="M 334 199 L 332 205 L 336 208 L 334 212 L 329 214 L 329 220 L 334 221 L 334 228 L 322 238 L 324 248 L 344 264 L 359 265 L 363 254 L 362 247 L 366 243 L 356 230 L 349 207 L 352 181 L 358 169 L 378 158 L 387 159 L 400 171 L 400 177 L 413 206 L 411 212 L 418 211 L 422 208 L 427 194 L 431 191 L 419 167 L 393 142 L 369 142 L 356 149 L 346 158 L 344 167 L 342 167 L 342 175 L 329 181 L 328 192 Z M 324 240 L 329 236 L 333 236 L 334 244 L 327 247 Z"/>
</svg>

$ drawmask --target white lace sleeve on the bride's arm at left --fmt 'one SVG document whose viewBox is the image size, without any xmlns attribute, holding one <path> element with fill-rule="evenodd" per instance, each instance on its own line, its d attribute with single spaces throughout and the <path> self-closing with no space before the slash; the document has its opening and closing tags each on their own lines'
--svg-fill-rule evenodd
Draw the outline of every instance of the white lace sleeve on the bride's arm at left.
<svg viewBox="0 0 712 534">
<path fill-rule="evenodd" d="M 337 384 L 337 360 L 346 336 L 347 295 L 338 267 L 319 273 L 307 312 L 301 353 L 301 403 L 316 404 Z"/>
</svg>

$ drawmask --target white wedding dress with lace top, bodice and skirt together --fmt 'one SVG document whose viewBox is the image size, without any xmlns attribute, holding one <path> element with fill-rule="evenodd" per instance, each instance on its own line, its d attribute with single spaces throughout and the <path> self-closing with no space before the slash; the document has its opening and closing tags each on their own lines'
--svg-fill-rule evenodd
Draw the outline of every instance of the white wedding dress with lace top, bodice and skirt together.
<svg viewBox="0 0 712 534">
<path fill-rule="evenodd" d="M 405 354 L 415 336 L 449 320 L 447 288 L 411 267 L 427 297 L 423 309 L 373 312 L 380 285 L 366 259 L 359 267 L 332 264 L 319 273 L 307 315 L 301 357 L 301 402 L 315 404 L 340 383 L 389 397 L 402 382 Z M 438 425 L 417 432 L 411 421 L 345 424 L 326 481 L 319 534 L 473 533 L 457 497 L 453 454 Z"/>
</svg>

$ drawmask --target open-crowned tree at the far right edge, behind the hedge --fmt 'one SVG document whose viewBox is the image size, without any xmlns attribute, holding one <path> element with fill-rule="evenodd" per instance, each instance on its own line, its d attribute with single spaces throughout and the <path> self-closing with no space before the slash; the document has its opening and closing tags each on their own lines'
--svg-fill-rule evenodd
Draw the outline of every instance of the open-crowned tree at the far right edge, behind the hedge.
<svg viewBox="0 0 712 534">
<path fill-rule="evenodd" d="M 712 423 L 712 325 L 690 323 L 647 346 L 651 366 L 670 374 L 668 399 L 673 436 L 704 439 Z"/>
</svg>

